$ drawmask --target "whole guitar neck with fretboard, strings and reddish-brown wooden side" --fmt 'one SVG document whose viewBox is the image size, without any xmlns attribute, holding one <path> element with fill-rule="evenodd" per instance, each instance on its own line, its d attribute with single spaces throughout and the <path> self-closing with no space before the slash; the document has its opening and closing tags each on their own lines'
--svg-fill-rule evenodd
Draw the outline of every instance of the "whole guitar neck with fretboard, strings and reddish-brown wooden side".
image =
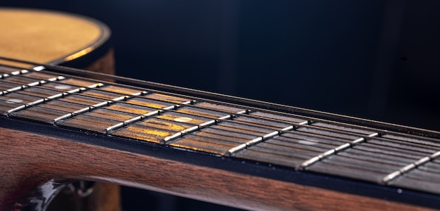
<svg viewBox="0 0 440 211">
<path fill-rule="evenodd" d="M 247 210 L 440 207 L 439 132 L 51 63 L 96 37 L 53 58 L 4 58 L 1 210 L 44 210 L 72 180 Z"/>
</svg>

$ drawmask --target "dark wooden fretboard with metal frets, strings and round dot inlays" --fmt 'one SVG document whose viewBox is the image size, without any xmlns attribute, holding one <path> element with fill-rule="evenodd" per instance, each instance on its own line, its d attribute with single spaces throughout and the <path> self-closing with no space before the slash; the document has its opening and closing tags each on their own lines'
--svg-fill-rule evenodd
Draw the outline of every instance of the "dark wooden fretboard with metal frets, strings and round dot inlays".
<svg viewBox="0 0 440 211">
<path fill-rule="evenodd" d="M 309 115 L 309 110 L 287 113 L 240 106 L 42 69 L 0 68 L 0 113 L 186 151 L 440 194 L 437 132 L 353 124 Z"/>
</svg>

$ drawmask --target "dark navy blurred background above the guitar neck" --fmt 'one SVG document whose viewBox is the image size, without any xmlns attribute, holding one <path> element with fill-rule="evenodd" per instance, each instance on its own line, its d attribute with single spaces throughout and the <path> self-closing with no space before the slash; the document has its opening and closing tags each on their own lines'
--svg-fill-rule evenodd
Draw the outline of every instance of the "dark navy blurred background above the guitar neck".
<svg viewBox="0 0 440 211">
<path fill-rule="evenodd" d="M 112 29 L 118 75 L 440 130 L 440 1 L 2 0 L 0 6 L 103 21 Z M 159 210 L 198 206 L 154 197 Z"/>
</svg>

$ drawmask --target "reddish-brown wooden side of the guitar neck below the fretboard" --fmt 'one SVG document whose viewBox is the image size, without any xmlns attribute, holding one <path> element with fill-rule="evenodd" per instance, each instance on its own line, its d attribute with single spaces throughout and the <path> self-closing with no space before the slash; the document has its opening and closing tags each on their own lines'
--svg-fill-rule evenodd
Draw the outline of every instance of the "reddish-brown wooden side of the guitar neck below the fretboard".
<svg viewBox="0 0 440 211">
<path fill-rule="evenodd" d="M 0 128 L 0 209 L 49 179 L 145 188 L 248 210 L 429 210 Z"/>
</svg>

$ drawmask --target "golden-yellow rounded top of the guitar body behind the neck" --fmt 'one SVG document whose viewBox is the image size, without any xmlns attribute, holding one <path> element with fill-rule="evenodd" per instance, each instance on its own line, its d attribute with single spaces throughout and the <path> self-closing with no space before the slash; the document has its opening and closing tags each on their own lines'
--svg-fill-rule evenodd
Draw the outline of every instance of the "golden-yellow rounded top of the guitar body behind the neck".
<svg viewBox="0 0 440 211">
<path fill-rule="evenodd" d="M 99 22 L 53 11 L 0 8 L 0 20 L 0 55 L 37 63 L 79 58 L 110 36 Z"/>
</svg>

